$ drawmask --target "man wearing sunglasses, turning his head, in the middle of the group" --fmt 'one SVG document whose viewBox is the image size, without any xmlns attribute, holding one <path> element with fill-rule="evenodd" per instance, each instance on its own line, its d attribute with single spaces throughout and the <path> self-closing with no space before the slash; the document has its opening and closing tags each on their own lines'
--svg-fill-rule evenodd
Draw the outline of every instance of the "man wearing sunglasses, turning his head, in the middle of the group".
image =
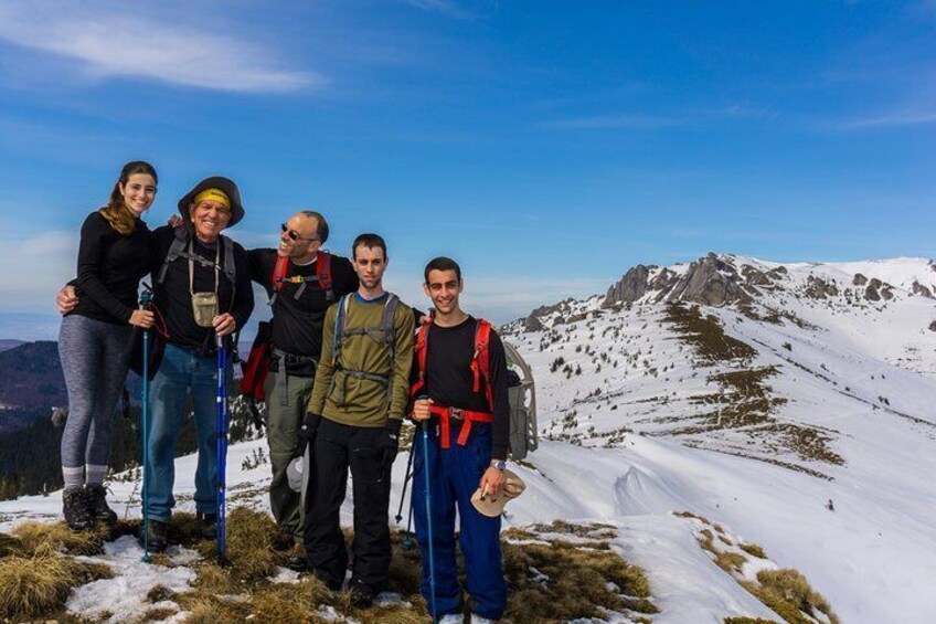
<svg viewBox="0 0 936 624">
<path fill-rule="evenodd" d="M 358 290 L 351 262 L 321 251 L 326 241 L 328 222 L 308 210 L 280 225 L 277 248 L 248 252 L 251 278 L 264 287 L 273 311 L 273 349 L 264 390 L 273 467 L 269 505 L 279 527 L 274 546 L 281 550 L 302 542 L 305 509 L 299 493 L 289 487 L 286 468 L 301 453 L 299 427 L 321 353 L 325 313 L 342 295 Z M 325 264 L 330 265 L 328 276 Z M 301 556 L 290 558 L 294 567 L 305 562 Z"/>
</svg>

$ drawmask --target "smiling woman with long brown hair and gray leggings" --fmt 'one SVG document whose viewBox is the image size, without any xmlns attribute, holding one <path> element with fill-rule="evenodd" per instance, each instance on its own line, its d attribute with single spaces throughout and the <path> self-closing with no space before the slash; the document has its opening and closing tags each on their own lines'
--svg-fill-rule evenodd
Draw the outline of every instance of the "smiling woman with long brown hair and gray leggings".
<svg viewBox="0 0 936 624">
<path fill-rule="evenodd" d="M 127 378 L 124 353 L 131 326 L 152 327 L 151 311 L 137 309 L 140 278 L 150 268 L 150 231 L 140 219 L 156 199 L 156 169 L 145 161 L 120 171 L 106 205 L 82 225 L 78 304 L 62 319 L 59 355 L 68 390 L 62 435 L 63 511 L 74 530 L 115 522 L 104 477 L 110 422 Z"/>
</svg>

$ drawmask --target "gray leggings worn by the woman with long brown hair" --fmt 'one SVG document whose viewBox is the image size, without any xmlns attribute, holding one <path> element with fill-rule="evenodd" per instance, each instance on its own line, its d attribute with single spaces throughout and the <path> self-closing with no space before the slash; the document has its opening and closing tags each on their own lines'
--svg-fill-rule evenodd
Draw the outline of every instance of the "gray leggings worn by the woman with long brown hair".
<svg viewBox="0 0 936 624">
<path fill-rule="evenodd" d="M 59 357 L 68 390 L 68 419 L 62 434 L 66 487 L 85 480 L 104 483 L 110 455 L 110 422 L 127 379 L 124 352 L 129 337 L 129 325 L 78 315 L 62 319 Z"/>
</svg>

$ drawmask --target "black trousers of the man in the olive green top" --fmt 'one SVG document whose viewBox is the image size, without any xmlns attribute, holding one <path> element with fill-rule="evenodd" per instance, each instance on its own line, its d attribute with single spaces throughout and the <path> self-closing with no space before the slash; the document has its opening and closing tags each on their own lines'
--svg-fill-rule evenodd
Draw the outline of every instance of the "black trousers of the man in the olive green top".
<svg viewBox="0 0 936 624">
<path fill-rule="evenodd" d="M 383 429 L 358 427 L 322 417 L 312 445 L 312 491 L 306 514 L 305 543 L 316 574 L 340 584 L 348 569 L 340 511 L 351 468 L 354 542 L 351 582 L 374 592 L 386 588 L 390 569 L 390 469 L 377 441 Z M 311 496 L 308 496 L 311 494 Z"/>
</svg>

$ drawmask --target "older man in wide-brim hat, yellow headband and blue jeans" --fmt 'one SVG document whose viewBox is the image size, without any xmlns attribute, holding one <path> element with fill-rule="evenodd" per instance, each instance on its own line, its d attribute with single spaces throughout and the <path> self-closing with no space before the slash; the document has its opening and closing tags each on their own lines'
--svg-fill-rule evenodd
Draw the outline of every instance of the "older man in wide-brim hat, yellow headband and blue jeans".
<svg viewBox="0 0 936 624">
<path fill-rule="evenodd" d="M 153 306 L 163 319 L 164 351 L 152 374 L 146 506 L 148 544 L 162 550 L 176 500 L 176 442 L 191 396 L 199 443 L 195 512 L 205 537 L 217 520 L 219 470 L 215 433 L 216 338 L 244 327 L 254 308 L 247 252 L 222 234 L 244 218 L 241 192 L 228 178 L 214 176 L 179 200 L 183 228 L 164 225 L 152 233 L 156 266 Z M 233 371 L 225 374 L 232 387 Z"/>
</svg>

